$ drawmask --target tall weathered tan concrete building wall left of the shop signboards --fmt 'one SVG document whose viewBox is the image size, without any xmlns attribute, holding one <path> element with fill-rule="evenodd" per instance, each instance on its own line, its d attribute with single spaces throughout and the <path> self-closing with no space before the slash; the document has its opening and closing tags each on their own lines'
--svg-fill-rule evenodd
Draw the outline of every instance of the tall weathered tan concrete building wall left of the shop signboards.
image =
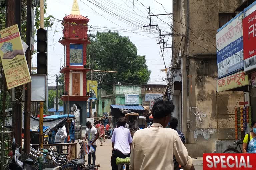
<svg viewBox="0 0 256 170">
<path fill-rule="evenodd" d="M 176 35 L 173 38 L 172 66 L 181 68 L 183 74 L 182 130 L 188 143 L 186 147 L 193 156 L 215 150 L 218 74 L 214 46 L 219 15 L 233 13 L 241 2 L 173 0 L 173 33 Z"/>
</svg>

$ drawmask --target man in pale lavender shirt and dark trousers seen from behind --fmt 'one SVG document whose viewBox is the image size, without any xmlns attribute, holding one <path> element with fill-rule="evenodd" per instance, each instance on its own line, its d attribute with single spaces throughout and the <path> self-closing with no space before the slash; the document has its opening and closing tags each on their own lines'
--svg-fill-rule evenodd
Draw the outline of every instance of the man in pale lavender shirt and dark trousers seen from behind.
<svg viewBox="0 0 256 170">
<path fill-rule="evenodd" d="M 118 119 L 118 128 L 115 128 L 112 134 L 112 156 L 111 156 L 111 166 L 112 170 L 117 170 L 116 158 L 127 158 L 130 157 L 131 145 L 132 145 L 132 136 L 130 130 L 125 128 L 126 119 Z M 127 166 L 129 170 L 129 166 Z"/>
</svg>

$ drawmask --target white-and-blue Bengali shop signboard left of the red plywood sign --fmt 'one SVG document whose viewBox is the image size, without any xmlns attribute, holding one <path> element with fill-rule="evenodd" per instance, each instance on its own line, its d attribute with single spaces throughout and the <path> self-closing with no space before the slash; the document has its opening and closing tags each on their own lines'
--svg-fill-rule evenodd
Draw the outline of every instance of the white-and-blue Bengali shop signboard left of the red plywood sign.
<svg viewBox="0 0 256 170">
<path fill-rule="evenodd" d="M 216 41 L 218 78 L 243 69 L 243 26 L 241 14 L 218 30 Z"/>
</svg>

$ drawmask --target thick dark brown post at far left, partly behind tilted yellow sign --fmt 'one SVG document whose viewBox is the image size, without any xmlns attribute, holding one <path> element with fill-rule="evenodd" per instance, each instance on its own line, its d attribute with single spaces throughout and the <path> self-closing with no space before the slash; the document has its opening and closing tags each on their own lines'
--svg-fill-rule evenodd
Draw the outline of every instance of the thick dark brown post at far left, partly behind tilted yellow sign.
<svg viewBox="0 0 256 170">
<path fill-rule="evenodd" d="M 18 24 L 18 28 L 21 31 L 21 0 L 8 0 L 6 1 L 6 28 L 12 25 Z M 22 86 L 15 88 L 15 92 L 21 92 L 23 90 Z M 17 93 L 15 98 L 20 98 L 21 93 Z M 12 109 L 12 126 L 15 133 L 16 143 L 22 146 L 22 104 L 21 100 L 17 100 L 13 104 Z"/>
</svg>

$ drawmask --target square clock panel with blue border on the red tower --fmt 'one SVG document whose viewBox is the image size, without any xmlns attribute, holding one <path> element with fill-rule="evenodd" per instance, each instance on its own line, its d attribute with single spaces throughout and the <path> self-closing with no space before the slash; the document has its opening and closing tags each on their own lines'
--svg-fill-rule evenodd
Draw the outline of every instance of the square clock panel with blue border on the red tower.
<svg viewBox="0 0 256 170">
<path fill-rule="evenodd" d="M 83 44 L 70 44 L 70 65 L 83 65 Z"/>
</svg>

